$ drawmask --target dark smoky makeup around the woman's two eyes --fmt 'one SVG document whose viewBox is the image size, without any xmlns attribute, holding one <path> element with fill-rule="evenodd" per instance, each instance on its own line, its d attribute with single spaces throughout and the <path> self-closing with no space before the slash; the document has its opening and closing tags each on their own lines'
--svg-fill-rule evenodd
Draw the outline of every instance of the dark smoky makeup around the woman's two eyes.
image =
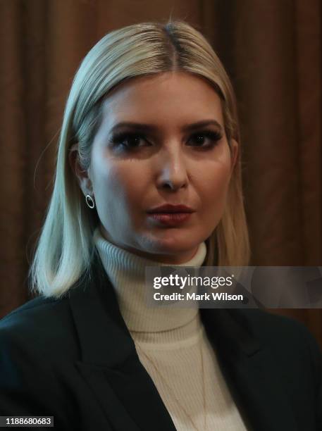
<svg viewBox="0 0 322 431">
<path fill-rule="evenodd" d="M 213 130 L 203 130 L 201 132 L 194 132 L 190 136 L 190 140 L 194 141 L 194 145 L 199 150 L 213 149 L 214 146 L 223 137 L 220 132 Z M 202 138 L 202 139 L 200 139 Z M 208 142 L 207 142 L 208 140 Z M 145 145 L 140 142 L 145 141 Z M 112 135 L 109 142 L 113 145 L 113 148 L 121 148 L 123 151 L 135 151 L 142 146 L 150 146 L 147 138 L 138 132 L 118 132 Z"/>
</svg>

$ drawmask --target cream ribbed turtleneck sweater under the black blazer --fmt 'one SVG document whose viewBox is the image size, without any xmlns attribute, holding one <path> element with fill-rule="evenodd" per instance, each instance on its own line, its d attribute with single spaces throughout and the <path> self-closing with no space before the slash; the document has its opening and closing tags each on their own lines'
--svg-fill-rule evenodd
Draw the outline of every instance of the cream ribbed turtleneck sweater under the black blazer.
<svg viewBox="0 0 322 431">
<path fill-rule="evenodd" d="M 145 267 L 169 266 L 121 249 L 94 232 L 94 243 L 111 280 L 120 313 L 147 370 L 179 431 L 245 431 L 230 395 L 216 352 L 199 316 L 199 308 L 147 306 Z M 200 267 L 206 244 L 180 265 Z M 216 328 L 213 328 L 216 330 Z"/>
</svg>

